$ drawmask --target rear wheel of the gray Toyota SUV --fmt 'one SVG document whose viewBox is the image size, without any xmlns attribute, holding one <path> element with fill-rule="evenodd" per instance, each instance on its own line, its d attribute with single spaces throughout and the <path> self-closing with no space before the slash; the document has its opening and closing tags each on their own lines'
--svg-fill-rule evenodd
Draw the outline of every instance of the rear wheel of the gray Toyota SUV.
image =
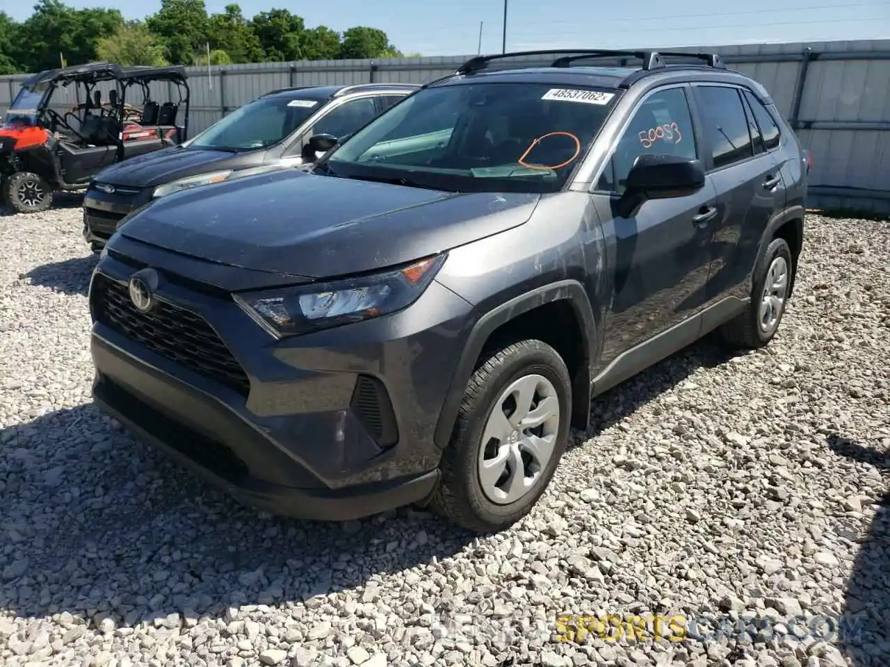
<svg viewBox="0 0 890 667">
<path fill-rule="evenodd" d="M 725 342 L 736 348 L 756 350 L 773 340 L 788 305 L 794 271 L 785 239 L 774 238 L 757 262 L 748 308 L 719 329 Z"/>
</svg>

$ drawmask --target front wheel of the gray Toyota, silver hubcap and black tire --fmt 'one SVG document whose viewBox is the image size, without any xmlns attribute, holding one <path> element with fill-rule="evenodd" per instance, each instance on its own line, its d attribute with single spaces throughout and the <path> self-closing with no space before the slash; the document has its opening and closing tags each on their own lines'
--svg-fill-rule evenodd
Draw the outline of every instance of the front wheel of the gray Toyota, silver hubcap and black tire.
<svg viewBox="0 0 890 667">
<path fill-rule="evenodd" d="M 490 354 L 464 392 L 433 510 L 477 533 L 528 514 L 565 451 L 570 406 L 569 371 L 546 343 Z"/>
</svg>

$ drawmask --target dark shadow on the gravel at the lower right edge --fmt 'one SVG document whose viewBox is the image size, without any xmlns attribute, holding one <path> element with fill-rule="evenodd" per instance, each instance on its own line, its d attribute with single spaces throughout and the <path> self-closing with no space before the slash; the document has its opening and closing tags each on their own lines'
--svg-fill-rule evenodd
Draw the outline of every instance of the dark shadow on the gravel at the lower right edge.
<svg viewBox="0 0 890 667">
<path fill-rule="evenodd" d="M 886 475 L 890 452 L 864 447 L 846 438 L 831 435 L 829 448 L 856 462 L 875 466 Z M 837 644 L 854 667 L 883 664 L 879 656 L 890 654 L 890 494 L 885 494 L 868 534 L 851 531 L 849 539 L 861 542 L 846 584 L 845 619 L 837 628 Z"/>
</svg>

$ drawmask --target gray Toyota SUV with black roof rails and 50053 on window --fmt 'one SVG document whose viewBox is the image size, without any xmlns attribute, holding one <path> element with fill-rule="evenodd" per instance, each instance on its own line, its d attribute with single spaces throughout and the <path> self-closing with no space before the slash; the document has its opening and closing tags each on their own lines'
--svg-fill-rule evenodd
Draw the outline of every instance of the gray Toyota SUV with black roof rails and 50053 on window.
<svg viewBox="0 0 890 667">
<path fill-rule="evenodd" d="M 809 154 L 769 94 L 708 54 L 534 57 L 134 213 L 90 288 L 98 405 L 255 507 L 489 532 L 592 397 L 712 330 L 770 342 Z"/>
</svg>

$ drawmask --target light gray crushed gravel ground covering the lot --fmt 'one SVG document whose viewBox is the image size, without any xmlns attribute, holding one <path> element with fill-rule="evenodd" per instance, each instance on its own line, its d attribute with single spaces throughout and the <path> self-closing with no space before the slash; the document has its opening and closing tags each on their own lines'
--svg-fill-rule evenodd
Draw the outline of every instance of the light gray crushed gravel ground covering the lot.
<svg viewBox="0 0 890 667">
<path fill-rule="evenodd" d="M 258 514 L 138 445 L 90 405 L 77 201 L 0 227 L 8 667 L 890 663 L 886 222 L 811 216 L 768 350 L 701 342 L 612 390 L 481 540 Z M 560 641 L 560 614 L 676 618 Z"/>
</svg>

